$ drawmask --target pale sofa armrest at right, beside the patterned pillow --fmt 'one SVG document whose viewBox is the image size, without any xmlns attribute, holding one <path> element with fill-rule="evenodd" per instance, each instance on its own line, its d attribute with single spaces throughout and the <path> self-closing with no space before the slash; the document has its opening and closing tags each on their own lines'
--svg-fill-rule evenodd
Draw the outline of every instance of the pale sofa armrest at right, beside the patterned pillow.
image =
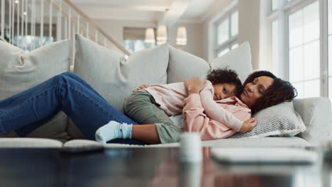
<svg viewBox="0 0 332 187">
<path fill-rule="evenodd" d="M 326 97 L 294 99 L 294 108 L 306 125 L 306 131 L 298 136 L 311 145 L 332 139 L 331 103 Z"/>
</svg>

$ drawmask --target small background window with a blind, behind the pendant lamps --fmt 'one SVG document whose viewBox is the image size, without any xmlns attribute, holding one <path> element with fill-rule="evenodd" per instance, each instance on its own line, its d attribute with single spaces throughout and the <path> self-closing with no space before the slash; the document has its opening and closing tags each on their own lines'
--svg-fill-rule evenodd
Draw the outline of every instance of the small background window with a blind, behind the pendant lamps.
<svg viewBox="0 0 332 187">
<path fill-rule="evenodd" d="M 145 42 L 146 28 L 123 28 L 123 44 L 126 50 L 133 53 L 155 46 L 155 43 Z"/>
</svg>

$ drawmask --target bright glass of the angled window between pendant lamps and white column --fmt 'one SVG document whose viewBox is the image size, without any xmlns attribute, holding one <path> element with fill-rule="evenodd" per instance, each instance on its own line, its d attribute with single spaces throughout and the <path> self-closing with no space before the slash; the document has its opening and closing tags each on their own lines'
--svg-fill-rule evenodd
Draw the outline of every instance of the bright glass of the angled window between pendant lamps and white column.
<svg viewBox="0 0 332 187">
<path fill-rule="evenodd" d="M 216 21 L 216 57 L 238 47 L 238 11 L 233 8 Z"/>
</svg>

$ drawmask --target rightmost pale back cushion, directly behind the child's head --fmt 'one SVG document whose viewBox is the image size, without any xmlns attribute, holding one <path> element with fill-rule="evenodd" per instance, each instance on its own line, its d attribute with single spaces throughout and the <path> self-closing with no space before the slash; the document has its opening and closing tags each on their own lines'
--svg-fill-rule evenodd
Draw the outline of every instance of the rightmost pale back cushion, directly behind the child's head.
<svg viewBox="0 0 332 187">
<path fill-rule="evenodd" d="M 238 48 L 212 60 L 210 65 L 211 70 L 226 67 L 235 70 L 243 83 L 248 75 L 253 72 L 249 42 L 243 42 Z"/>
</svg>

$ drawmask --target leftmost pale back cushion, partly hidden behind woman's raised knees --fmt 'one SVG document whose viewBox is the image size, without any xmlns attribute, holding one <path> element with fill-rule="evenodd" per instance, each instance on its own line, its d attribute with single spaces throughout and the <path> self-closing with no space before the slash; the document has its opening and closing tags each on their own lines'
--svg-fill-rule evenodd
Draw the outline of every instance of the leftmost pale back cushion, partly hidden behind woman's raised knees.
<svg viewBox="0 0 332 187">
<path fill-rule="evenodd" d="M 70 40 L 31 52 L 0 41 L 0 100 L 29 89 L 70 68 Z M 58 113 L 28 137 L 67 137 L 67 115 Z"/>
</svg>

